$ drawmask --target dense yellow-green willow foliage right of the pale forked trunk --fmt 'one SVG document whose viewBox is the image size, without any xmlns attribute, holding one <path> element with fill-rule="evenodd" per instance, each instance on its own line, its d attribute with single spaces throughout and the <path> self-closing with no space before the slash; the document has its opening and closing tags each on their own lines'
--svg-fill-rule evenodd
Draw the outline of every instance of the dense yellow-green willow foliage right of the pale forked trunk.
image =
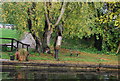
<svg viewBox="0 0 120 81">
<path fill-rule="evenodd" d="M 95 8 L 100 7 L 95 7 L 94 3 L 69 3 L 63 19 L 65 22 L 65 37 L 79 37 L 82 39 L 83 37 L 90 37 L 96 33 Z"/>
</svg>

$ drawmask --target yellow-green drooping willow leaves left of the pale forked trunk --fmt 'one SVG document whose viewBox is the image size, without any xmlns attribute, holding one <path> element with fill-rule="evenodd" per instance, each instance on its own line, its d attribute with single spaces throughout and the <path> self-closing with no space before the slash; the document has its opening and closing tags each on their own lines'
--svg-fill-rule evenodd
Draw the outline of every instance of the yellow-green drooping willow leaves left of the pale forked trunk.
<svg viewBox="0 0 120 81">
<path fill-rule="evenodd" d="M 4 22 L 15 24 L 16 29 L 22 32 L 28 30 L 28 19 L 32 20 L 33 33 L 38 36 L 44 28 L 44 6 L 43 3 L 36 3 L 33 10 L 30 10 L 28 14 L 28 9 L 32 8 L 32 2 L 28 3 L 4 3 L 3 4 L 3 15 L 2 18 Z"/>
</svg>

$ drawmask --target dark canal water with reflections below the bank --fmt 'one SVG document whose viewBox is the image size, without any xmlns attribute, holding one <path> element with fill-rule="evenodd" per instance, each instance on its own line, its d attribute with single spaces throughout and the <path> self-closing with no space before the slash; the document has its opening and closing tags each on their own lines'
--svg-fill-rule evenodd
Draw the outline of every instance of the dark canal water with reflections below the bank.
<svg viewBox="0 0 120 81">
<path fill-rule="evenodd" d="M 119 81 L 117 71 L 70 71 L 55 69 L 2 68 L 2 79 L 40 79 L 40 81 Z"/>
</svg>

